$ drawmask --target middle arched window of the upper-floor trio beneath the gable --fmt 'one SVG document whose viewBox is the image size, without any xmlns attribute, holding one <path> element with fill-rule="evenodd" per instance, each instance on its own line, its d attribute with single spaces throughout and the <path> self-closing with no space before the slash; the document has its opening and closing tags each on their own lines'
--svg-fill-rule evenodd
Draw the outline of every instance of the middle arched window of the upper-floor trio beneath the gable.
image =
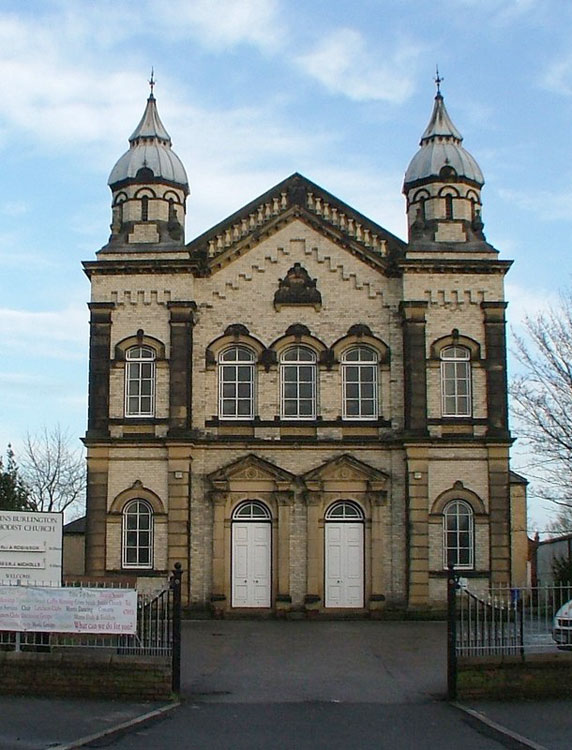
<svg viewBox="0 0 572 750">
<path fill-rule="evenodd" d="M 316 419 L 316 354 L 304 346 L 287 349 L 280 359 L 281 416 Z"/>
</svg>

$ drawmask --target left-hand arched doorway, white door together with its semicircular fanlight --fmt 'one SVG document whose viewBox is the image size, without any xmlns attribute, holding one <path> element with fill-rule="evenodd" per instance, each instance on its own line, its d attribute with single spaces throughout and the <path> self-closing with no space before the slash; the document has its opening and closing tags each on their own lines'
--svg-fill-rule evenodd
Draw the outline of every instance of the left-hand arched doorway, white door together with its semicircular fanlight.
<svg viewBox="0 0 572 750">
<path fill-rule="evenodd" d="M 246 500 L 232 514 L 232 606 L 270 607 L 272 516 L 259 500 Z"/>
</svg>

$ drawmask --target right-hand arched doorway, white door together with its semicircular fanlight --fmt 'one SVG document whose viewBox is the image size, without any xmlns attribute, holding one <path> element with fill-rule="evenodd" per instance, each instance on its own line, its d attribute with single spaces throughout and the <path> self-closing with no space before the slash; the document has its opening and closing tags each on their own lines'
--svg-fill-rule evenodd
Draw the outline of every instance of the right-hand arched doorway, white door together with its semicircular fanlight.
<svg viewBox="0 0 572 750">
<path fill-rule="evenodd" d="M 352 500 L 338 500 L 325 521 L 325 606 L 363 607 L 363 509 Z"/>
</svg>

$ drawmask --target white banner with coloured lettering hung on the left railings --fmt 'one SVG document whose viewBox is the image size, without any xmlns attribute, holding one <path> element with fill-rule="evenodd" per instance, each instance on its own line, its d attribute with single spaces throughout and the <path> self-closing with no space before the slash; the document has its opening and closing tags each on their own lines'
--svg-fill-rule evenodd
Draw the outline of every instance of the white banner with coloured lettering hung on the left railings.
<svg viewBox="0 0 572 750">
<path fill-rule="evenodd" d="M 0 586 L 0 630 L 136 633 L 137 592 L 134 589 Z"/>
</svg>

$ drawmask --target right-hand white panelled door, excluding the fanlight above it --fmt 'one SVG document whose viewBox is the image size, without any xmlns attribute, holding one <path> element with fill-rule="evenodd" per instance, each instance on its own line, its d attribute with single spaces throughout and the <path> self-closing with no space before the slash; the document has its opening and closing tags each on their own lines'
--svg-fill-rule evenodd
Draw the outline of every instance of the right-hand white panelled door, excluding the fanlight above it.
<svg viewBox="0 0 572 750">
<path fill-rule="evenodd" d="M 326 523 L 326 607 L 363 607 L 363 523 Z"/>
</svg>

